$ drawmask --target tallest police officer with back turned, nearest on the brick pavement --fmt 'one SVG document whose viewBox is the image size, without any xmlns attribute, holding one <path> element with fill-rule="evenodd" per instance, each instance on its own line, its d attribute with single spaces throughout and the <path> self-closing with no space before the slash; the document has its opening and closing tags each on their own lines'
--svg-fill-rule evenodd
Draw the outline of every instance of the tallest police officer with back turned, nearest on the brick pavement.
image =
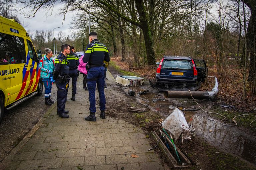
<svg viewBox="0 0 256 170">
<path fill-rule="evenodd" d="M 107 47 L 100 43 L 97 39 L 97 33 L 89 34 L 90 44 L 87 45 L 83 62 L 86 64 L 87 70 L 87 86 L 89 91 L 90 115 L 85 120 L 96 121 L 95 112 L 95 88 L 96 83 L 100 97 L 100 117 L 105 119 L 105 94 L 104 94 L 104 60 L 109 62 L 109 54 Z"/>
</svg>

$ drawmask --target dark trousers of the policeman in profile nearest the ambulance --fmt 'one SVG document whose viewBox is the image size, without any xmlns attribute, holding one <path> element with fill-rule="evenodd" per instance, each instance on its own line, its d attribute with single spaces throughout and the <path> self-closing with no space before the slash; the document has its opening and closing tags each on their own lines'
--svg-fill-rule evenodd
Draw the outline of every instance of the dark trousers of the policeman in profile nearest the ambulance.
<svg viewBox="0 0 256 170">
<path fill-rule="evenodd" d="M 55 81 L 57 91 L 57 111 L 59 114 L 64 113 L 66 105 L 66 82 L 59 77 Z"/>
</svg>

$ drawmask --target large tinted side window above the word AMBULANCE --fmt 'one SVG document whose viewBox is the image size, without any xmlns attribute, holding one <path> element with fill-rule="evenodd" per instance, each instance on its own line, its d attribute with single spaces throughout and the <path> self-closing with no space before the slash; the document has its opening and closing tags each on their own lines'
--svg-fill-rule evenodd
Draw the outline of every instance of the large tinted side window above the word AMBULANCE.
<svg viewBox="0 0 256 170">
<path fill-rule="evenodd" d="M 0 33 L 0 62 L 4 59 L 9 64 L 26 62 L 26 50 L 23 38 Z"/>
</svg>

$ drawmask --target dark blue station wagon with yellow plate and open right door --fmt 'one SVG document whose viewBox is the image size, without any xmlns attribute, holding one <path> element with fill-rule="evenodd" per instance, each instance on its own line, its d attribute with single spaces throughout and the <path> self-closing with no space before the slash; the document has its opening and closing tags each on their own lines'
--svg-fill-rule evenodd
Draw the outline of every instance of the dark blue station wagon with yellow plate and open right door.
<svg viewBox="0 0 256 170">
<path fill-rule="evenodd" d="M 205 60 L 190 56 L 164 56 L 156 68 L 155 85 L 173 90 L 199 89 L 208 72 Z"/>
</svg>

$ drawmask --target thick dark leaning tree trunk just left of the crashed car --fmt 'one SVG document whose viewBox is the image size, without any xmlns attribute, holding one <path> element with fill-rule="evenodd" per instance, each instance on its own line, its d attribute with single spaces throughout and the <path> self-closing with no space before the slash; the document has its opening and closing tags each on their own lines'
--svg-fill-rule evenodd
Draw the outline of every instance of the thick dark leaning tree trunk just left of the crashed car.
<svg viewBox="0 0 256 170">
<path fill-rule="evenodd" d="M 145 46 L 146 46 L 146 53 L 147 53 L 147 63 L 149 65 L 155 65 L 155 51 L 153 48 L 153 40 L 152 34 L 149 27 L 148 22 L 148 15 L 146 13 L 145 6 L 143 5 L 143 1 L 135 0 L 136 8 L 138 9 L 139 13 L 139 20 L 141 23 L 141 29 L 143 31 Z"/>
</svg>

